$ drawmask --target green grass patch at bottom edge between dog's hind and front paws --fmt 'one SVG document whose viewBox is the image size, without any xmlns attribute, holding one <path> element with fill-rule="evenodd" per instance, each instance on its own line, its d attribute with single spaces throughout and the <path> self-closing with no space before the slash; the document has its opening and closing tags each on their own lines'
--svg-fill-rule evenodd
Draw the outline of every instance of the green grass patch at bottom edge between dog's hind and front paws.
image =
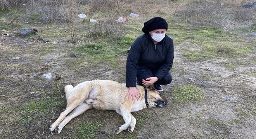
<svg viewBox="0 0 256 139">
<path fill-rule="evenodd" d="M 95 139 L 95 135 L 101 126 L 100 120 L 82 121 L 75 135 L 79 139 Z"/>
</svg>

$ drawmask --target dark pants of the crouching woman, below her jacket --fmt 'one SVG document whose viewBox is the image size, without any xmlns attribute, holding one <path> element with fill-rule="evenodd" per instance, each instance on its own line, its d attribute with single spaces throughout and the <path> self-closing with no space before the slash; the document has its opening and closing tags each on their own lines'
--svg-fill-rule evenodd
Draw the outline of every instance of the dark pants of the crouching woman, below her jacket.
<svg viewBox="0 0 256 139">
<path fill-rule="evenodd" d="M 153 77 L 157 72 L 156 68 L 140 68 L 137 69 L 137 82 L 138 85 L 142 85 L 142 79 L 146 80 L 146 78 Z M 156 81 L 159 85 L 168 85 L 173 80 L 170 71 L 161 79 Z"/>
</svg>

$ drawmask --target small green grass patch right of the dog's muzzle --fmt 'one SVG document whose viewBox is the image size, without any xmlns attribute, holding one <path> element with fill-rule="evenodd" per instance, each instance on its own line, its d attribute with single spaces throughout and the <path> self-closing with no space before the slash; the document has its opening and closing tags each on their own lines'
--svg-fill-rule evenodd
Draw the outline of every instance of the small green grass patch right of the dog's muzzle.
<svg viewBox="0 0 256 139">
<path fill-rule="evenodd" d="M 195 85 L 179 86 L 172 90 L 175 102 L 201 101 L 203 90 Z"/>
</svg>

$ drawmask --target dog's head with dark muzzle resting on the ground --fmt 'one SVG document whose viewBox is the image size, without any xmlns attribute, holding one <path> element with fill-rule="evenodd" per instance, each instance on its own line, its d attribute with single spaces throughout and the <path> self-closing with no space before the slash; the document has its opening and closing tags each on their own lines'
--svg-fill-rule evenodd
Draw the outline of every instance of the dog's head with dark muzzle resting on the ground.
<svg viewBox="0 0 256 139">
<path fill-rule="evenodd" d="M 149 102 L 149 107 L 165 107 L 168 104 L 168 100 L 162 98 L 160 93 L 157 92 L 154 87 L 147 87 L 147 100 Z"/>
</svg>

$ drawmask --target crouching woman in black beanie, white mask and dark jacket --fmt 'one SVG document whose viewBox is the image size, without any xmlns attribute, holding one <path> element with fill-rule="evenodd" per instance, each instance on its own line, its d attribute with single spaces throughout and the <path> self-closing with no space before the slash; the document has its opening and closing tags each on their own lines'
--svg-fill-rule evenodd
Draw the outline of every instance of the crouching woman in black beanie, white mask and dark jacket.
<svg viewBox="0 0 256 139">
<path fill-rule="evenodd" d="M 165 33 L 168 29 L 166 20 L 154 17 L 144 23 L 142 34 L 131 45 L 126 61 L 126 87 L 128 98 L 138 99 L 138 85 L 153 85 L 162 92 L 161 85 L 170 84 L 173 65 L 173 40 Z M 127 96 L 126 95 L 126 96 Z"/>
</svg>

